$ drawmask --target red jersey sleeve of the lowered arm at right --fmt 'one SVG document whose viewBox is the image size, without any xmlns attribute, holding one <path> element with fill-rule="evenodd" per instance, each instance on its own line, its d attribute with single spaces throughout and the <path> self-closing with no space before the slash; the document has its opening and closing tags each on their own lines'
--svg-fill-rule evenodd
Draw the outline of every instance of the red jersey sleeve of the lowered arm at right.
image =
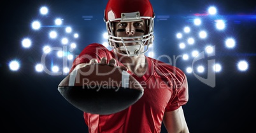
<svg viewBox="0 0 256 133">
<path fill-rule="evenodd" d="M 166 106 L 166 111 L 173 111 L 180 106 L 185 105 L 188 101 L 188 82 L 187 77 L 184 76 L 183 82 L 181 85 L 173 89 L 173 96 L 171 97 L 169 103 Z"/>
</svg>

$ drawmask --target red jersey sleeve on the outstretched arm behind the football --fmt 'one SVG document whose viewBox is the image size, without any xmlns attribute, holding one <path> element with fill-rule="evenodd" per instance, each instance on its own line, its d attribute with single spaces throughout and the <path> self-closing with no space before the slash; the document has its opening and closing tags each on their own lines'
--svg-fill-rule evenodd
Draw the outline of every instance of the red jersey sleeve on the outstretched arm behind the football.
<svg viewBox="0 0 256 133">
<path fill-rule="evenodd" d="M 75 60 L 73 61 L 72 67 L 69 71 L 72 72 L 73 69 L 81 64 L 81 63 L 89 63 L 90 60 L 92 60 L 93 58 L 97 59 L 97 61 L 99 62 L 101 60 L 102 57 L 107 57 L 107 53 L 108 49 L 106 49 L 106 47 L 104 47 L 101 44 L 89 44 L 87 47 L 85 47 L 83 49 L 83 51 L 75 58 Z"/>
</svg>

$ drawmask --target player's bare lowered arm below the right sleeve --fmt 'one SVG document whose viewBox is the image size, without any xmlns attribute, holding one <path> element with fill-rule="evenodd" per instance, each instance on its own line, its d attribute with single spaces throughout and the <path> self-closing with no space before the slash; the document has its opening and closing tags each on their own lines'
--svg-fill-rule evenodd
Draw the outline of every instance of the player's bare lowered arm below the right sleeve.
<svg viewBox="0 0 256 133">
<path fill-rule="evenodd" d="M 182 106 L 177 110 L 164 113 L 162 122 L 169 133 L 189 133 Z"/>
</svg>

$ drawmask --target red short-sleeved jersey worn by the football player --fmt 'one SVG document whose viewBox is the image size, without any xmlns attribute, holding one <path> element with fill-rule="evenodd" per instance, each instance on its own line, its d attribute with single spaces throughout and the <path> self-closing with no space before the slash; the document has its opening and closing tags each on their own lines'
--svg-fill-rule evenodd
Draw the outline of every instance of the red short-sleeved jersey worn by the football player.
<svg viewBox="0 0 256 133">
<path fill-rule="evenodd" d="M 89 63 L 90 59 L 98 61 L 102 57 L 117 60 L 117 56 L 101 44 L 90 44 L 76 57 L 71 71 L 80 63 Z M 175 66 L 146 57 L 148 69 L 145 75 L 137 77 L 144 89 L 143 96 L 129 108 L 111 115 L 83 113 L 89 132 L 160 132 L 162 118 L 167 111 L 173 111 L 188 101 L 188 84 L 186 75 Z M 117 65 L 120 63 L 117 60 Z"/>
</svg>

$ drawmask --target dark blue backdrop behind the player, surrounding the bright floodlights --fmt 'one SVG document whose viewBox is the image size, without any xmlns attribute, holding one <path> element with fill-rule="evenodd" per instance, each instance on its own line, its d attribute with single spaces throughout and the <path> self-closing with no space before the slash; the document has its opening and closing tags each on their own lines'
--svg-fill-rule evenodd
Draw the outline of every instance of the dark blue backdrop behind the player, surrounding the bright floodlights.
<svg viewBox="0 0 256 133">
<path fill-rule="evenodd" d="M 102 42 L 106 30 L 103 13 L 107 1 L 8 1 L 1 6 L 1 130 L 6 132 L 88 132 L 83 112 L 70 105 L 57 91 L 65 75 L 36 73 L 34 64 L 40 61 L 41 41 L 47 30 L 34 32 L 31 21 L 64 18 L 80 34 L 78 54 L 92 42 Z M 50 14 L 39 16 L 41 6 L 48 6 Z M 152 0 L 155 18 L 155 56 L 181 54 L 175 34 L 191 23 L 193 14 L 206 13 L 209 6 L 217 6 L 218 14 L 227 20 L 225 32 L 210 26 L 213 18 L 203 16 L 210 32 L 210 40 L 217 46 L 216 60 L 223 70 L 216 75 L 216 86 L 210 87 L 188 74 L 189 101 L 183 106 L 188 128 L 192 133 L 253 132 L 255 130 L 255 37 L 256 4 L 249 0 L 188 1 Z M 250 17 L 248 17 L 250 15 Z M 93 16 L 84 20 L 82 16 Z M 166 18 L 161 20 L 160 18 Z M 65 25 L 65 24 L 64 24 Z M 43 27 L 47 29 L 49 27 Z M 220 40 L 232 35 L 236 48 L 225 49 Z M 21 46 L 23 37 L 34 40 L 31 49 Z M 18 72 L 8 68 L 10 60 L 22 65 Z M 239 72 L 236 61 L 247 60 L 249 69 Z M 185 70 L 183 61 L 177 66 Z M 162 132 L 166 130 L 162 129 Z"/>
</svg>

